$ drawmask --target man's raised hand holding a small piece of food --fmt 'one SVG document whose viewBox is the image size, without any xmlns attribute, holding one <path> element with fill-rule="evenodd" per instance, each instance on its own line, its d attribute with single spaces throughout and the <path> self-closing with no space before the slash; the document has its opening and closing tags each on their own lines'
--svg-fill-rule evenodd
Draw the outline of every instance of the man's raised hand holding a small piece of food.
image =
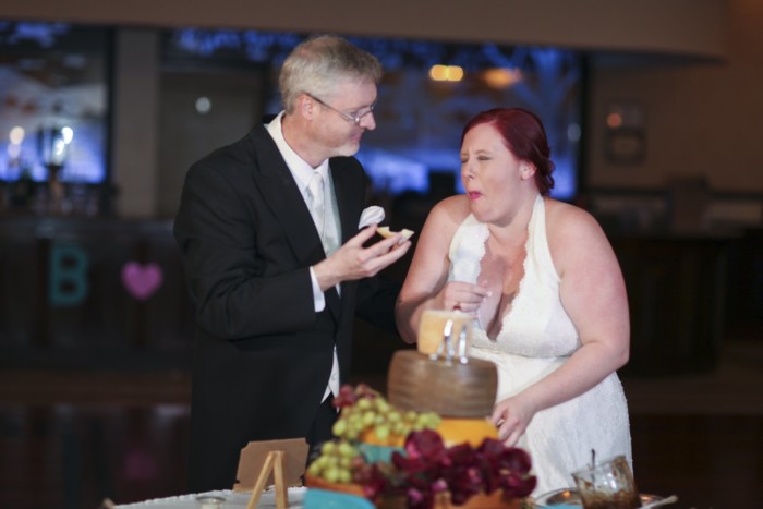
<svg viewBox="0 0 763 509">
<path fill-rule="evenodd" d="M 364 228 L 328 258 L 313 267 L 320 290 L 326 291 L 342 281 L 376 276 L 379 270 L 402 258 L 411 247 L 411 241 L 403 240 L 400 233 L 363 247 L 375 233 L 376 225 Z"/>
</svg>

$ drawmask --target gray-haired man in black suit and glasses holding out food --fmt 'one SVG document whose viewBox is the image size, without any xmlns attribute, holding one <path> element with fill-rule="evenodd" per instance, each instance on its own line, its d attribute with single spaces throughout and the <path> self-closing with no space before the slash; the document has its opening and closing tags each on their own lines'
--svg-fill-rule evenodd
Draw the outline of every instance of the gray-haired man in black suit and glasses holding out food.
<svg viewBox="0 0 763 509">
<path fill-rule="evenodd" d="M 368 242 L 352 157 L 380 76 L 346 40 L 307 39 L 281 70 L 284 111 L 187 172 L 174 235 L 196 305 L 193 492 L 231 488 L 251 440 L 330 438 L 353 317 L 396 331 L 398 284 L 376 275 L 410 241 Z"/>
</svg>

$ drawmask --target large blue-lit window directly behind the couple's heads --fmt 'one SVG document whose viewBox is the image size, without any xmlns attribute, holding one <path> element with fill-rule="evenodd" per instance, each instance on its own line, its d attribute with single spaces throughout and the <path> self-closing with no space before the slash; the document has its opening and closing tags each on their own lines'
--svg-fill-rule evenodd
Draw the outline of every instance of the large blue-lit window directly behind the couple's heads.
<svg viewBox="0 0 763 509">
<path fill-rule="evenodd" d="M 168 52 L 277 68 L 303 38 L 293 33 L 185 28 L 173 33 Z M 567 126 L 580 125 L 581 63 L 577 52 L 379 37 L 348 40 L 376 56 L 387 77 L 379 84 L 375 112 L 379 129 L 366 133 L 358 155 L 375 192 L 425 193 L 431 172 L 453 173 L 455 192 L 461 192 L 458 144 L 463 124 L 480 111 L 518 106 L 537 113 L 546 126 L 556 163 L 553 194 L 561 199 L 574 197 L 580 135 L 571 137 Z M 434 93 L 425 76 L 434 64 L 463 68 L 464 83 L 443 83 Z M 480 73 L 495 69 L 510 70 L 513 80 L 491 88 Z M 271 92 L 265 111 L 276 113 L 279 109 L 278 93 Z"/>
</svg>

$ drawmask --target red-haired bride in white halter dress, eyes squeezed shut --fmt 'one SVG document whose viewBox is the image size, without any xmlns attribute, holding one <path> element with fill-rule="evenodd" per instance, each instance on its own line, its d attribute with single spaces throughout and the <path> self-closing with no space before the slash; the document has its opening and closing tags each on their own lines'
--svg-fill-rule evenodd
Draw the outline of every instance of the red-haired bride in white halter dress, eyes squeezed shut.
<svg viewBox="0 0 763 509">
<path fill-rule="evenodd" d="M 537 117 L 477 114 L 461 144 L 465 194 L 426 220 L 397 306 L 415 342 L 426 308 L 475 317 L 470 355 L 498 366 L 489 419 L 526 449 L 535 494 L 573 485 L 596 458 L 631 462 L 628 407 L 616 369 L 630 323 L 617 258 L 586 211 L 548 197 L 553 162 Z"/>
</svg>

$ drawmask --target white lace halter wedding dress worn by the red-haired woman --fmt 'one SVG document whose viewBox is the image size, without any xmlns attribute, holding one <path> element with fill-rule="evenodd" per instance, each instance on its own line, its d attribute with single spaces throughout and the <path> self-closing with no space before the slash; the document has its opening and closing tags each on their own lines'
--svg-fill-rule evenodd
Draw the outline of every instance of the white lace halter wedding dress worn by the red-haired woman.
<svg viewBox="0 0 763 509">
<path fill-rule="evenodd" d="M 574 325 L 559 299 L 559 277 L 546 240 L 545 205 L 537 196 L 528 227 L 524 276 L 495 341 L 474 322 L 470 355 L 498 366 L 500 401 L 542 379 L 580 348 Z M 475 283 L 485 254 L 487 226 L 469 216 L 450 244 L 449 280 Z M 626 455 L 631 463 L 628 407 L 611 374 L 588 392 L 538 412 L 519 447 L 532 457 L 535 495 L 574 486 L 571 472 L 591 462 Z"/>
</svg>

